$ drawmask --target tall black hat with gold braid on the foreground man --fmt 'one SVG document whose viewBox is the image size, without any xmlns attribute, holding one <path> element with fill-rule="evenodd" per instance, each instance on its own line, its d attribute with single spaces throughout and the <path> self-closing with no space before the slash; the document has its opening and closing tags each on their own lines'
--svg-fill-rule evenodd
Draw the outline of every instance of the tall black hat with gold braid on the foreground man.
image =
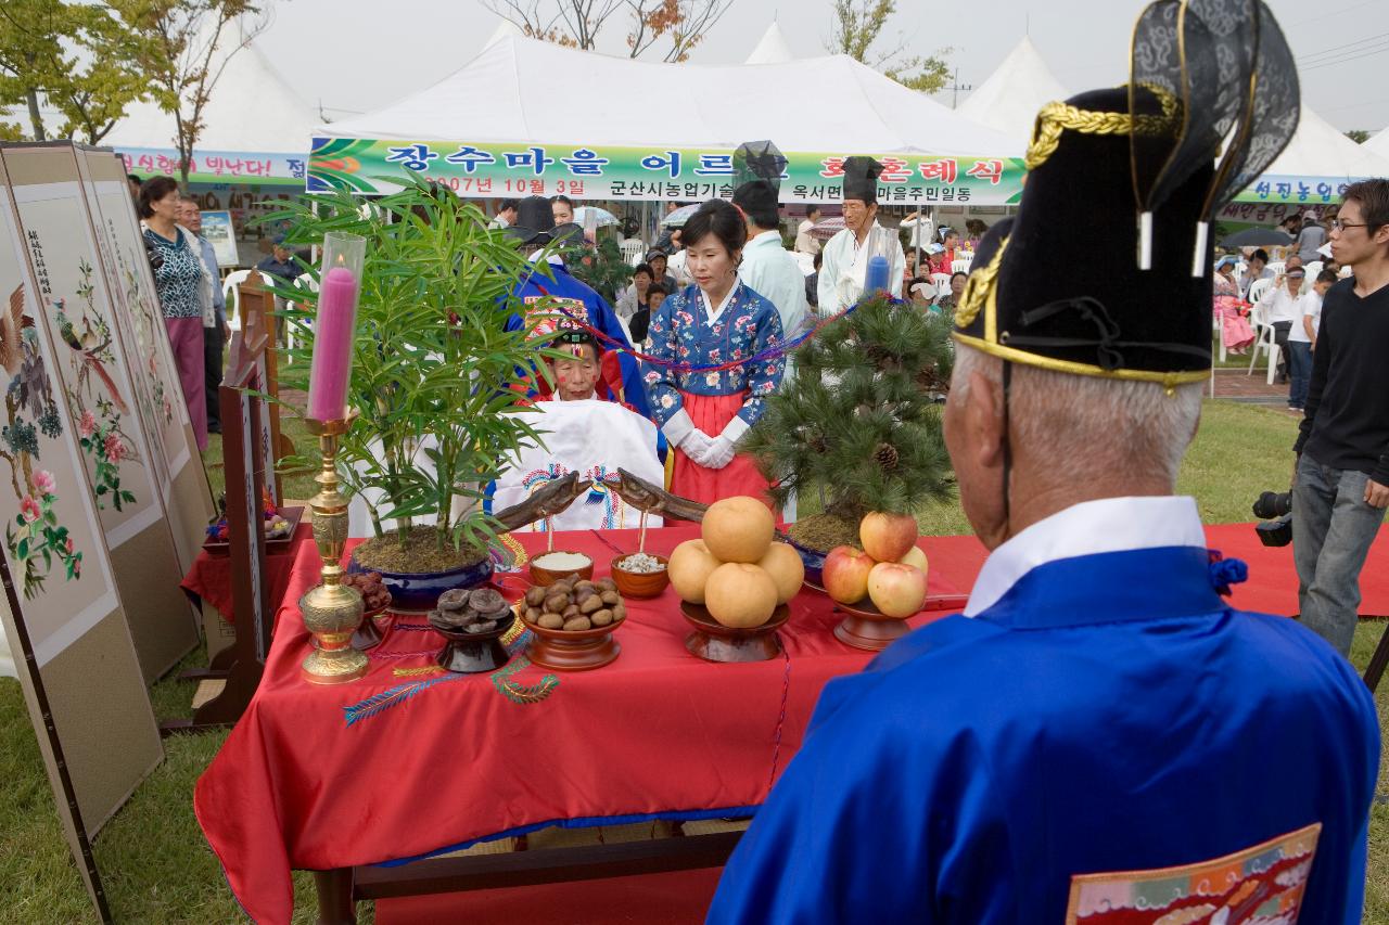
<svg viewBox="0 0 1389 925">
<path fill-rule="evenodd" d="M 1200 6 L 1258 11 L 1263 3 Z M 1135 42 L 1145 18 L 1171 7 L 1185 4 L 1158 0 L 1149 7 Z M 1188 33 L 1204 28 L 1193 10 L 1178 12 L 1174 22 Z M 1261 14 L 1267 36 L 1272 17 L 1267 8 Z M 1272 33 L 1282 39 L 1276 24 Z M 1246 33 L 1224 35 L 1238 44 Z M 1171 47 L 1200 54 L 1206 64 L 1229 57 L 1213 43 Z M 1243 72 L 1245 86 L 1254 78 Z M 1217 164 L 1221 142 L 1229 132 L 1240 138 L 1247 126 L 1238 114 L 1233 122 L 1213 121 L 1206 103 L 1163 83 L 1145 79 L 1042 108 L 1018 214 L 995 224 L 974 256 L 956 310 L 960 343 L 1010 362 L 1167 388 L 1208 375 L 1213 271 L 1203 224 L 1224 204 L 1213 197 L 1225 181 Z M 1272 156 L 1286 135 L 1274 135 Z M 1058 228 L 1089 229 L 1082 257 L 1074 235 Z"/>
</svg>

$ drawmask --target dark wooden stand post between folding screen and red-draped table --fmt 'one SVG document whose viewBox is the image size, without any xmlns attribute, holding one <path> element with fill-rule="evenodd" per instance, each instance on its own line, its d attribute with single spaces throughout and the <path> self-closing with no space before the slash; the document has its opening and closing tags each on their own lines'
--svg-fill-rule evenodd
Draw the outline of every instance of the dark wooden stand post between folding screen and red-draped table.
<svg viewBox="0 0 1389 925">
<path fill-rule="evenodd" d="M 264 350 L 264 343 L 253 346 Z M 254 356 L 254 350 L 246 346 L 243 329 L 232 340 L 233 374 L 222 381 L 218 390 L 236 639 L 217 654 L 207 671 L 183 675 L 188 679 L 224 679 L 225 686 L 219 694 L 194 710 L 192 719 L 160 724 L 160 735 L 164 736 L 235 725 L 246 712 L 265 671 L 272 625 L 269 589 L 265 585 L 265 528 L 261 524 L 265 486 L 263 401 L 250 394 L 260 389 Z"/>
</svg>

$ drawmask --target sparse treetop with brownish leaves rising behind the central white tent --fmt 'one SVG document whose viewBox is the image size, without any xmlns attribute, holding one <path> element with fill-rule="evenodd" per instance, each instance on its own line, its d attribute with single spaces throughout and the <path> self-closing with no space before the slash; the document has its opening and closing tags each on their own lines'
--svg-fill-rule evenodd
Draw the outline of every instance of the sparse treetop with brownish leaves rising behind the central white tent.
<svg viewBox="0 0 1389 925">
<path fill-rule="evenodd" d="M 663 38 L 665 61 L 685 61 L 690 50 L 733 6 L 733 0 L 481 0 L 525 35 L 571 49 L 597 47 L 613 14 L 626 10 L 629 57 L 640 57 Z"/>
</svg>

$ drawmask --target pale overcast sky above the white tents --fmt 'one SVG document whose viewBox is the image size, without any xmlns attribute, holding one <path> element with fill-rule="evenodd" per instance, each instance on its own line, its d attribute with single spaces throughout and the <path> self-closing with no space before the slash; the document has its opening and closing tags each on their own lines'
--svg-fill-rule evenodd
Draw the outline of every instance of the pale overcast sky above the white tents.
<svg viewBox="0 0 1389 925">
<path fill-rule="evenodd" d="M 478 0 L 271 3 L 274 22 L 258 44 L 329 118 L 371 111 L 429 86 L 467 64 L 497 25 Z M 1303 101 L 1340 129 L 1374 132 L 1389 125 L 1389 0 L 1268 3 L 1299 60 Z M 1079 92 L 1126 78 L 1129 33 L 1145 6 L 1140 0 L 899 0 L 879 42 L 904 39 L 921 53 L 949 46 L 960 83 L 978 86 L 1028 33 L 1061 85 Z M 735 0 L 690 61 L 742 61 L 774 17 L 796 57 L 825 54 L 831 8 L 831 0 Z M 622 51 L 626 33 L 621 17 L 614 14 L 603 33 L 603 47 L 614 53 Z M 647 51 L 644 58 L 660 56 Z M 563 104 L 581 104 L 563 99 L 563 83 L 556 89 Z M 950 96 L 936 99 L 949 106 Z M 631 100 L 639 99 L 639 89 L 631 88 Z"/>
</svg>

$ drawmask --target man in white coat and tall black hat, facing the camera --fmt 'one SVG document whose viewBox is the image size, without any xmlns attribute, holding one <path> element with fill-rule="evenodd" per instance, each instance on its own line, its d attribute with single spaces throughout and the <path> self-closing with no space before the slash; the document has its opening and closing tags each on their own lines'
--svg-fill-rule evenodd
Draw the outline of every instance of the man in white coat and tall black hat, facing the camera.
<svg viewBox="0 0 1389 925">
<path fill-rule="evenodd" d="M 896 233 L 878 224 L 878 176 L 882 164 L 871 157 L 845 158 L 845 231 L 825 243 L 824 264 L 820 268 L 820 312 L 833 315 L 858 301 L 864 293 L 868 258 L 872 257 L 875 236 L 890 236 L 888 253 L 888 292 L 901 297 L 901 283 L 907 274 L 907 256 Z"/>
</svg>

